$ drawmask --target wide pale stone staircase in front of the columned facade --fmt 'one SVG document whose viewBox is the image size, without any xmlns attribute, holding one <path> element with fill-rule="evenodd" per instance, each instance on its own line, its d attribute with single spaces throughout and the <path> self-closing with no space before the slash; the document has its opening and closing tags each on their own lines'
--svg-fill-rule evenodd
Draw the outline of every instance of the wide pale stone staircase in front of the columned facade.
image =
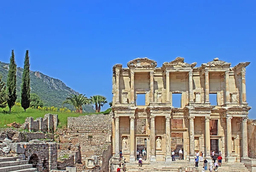
<svg viewBox="0 0 256 172">
<path fill-rule="evenodd" d="M 126 172 L 178 172 L 180 167 L 184 167 L 186 172 L 196 171 L 194 168 L 194 163 L 189 163 L 188 161 L 184 160 L 176 160 L 168 163 L 144 161 L 142 167 L 139 167 L 137 163 L 138 161 L 126 163 Z M 201 172 L 203 168 L 203 162 L 199 162 L 198 166 L 198 172 Z M 209 165 L 206 172 L 209 172 Z M 240 162 L 224 162 L 220 167 L 218 167 L 218 172 L 249 172 L 249 170 L 244 166 L 243 163 Z"/>
</svg>

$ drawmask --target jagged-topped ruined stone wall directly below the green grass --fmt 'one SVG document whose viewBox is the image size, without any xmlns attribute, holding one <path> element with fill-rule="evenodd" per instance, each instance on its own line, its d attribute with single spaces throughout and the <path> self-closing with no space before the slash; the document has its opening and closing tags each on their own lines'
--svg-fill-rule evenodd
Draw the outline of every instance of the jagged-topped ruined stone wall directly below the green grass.
<svg viewBox="0 0 256 172">
<path fill-rule="evenodd" d="M 22 124 L 21 128 L 29 130 L 29 131 L 41 131 L 53 133 L 57 130 L 58 125 L 58 115 L 56 114 L 46 114 L 44 118 L 34 118 L 29 117 L 26 118 L 24 124 Z"/>
</svg>

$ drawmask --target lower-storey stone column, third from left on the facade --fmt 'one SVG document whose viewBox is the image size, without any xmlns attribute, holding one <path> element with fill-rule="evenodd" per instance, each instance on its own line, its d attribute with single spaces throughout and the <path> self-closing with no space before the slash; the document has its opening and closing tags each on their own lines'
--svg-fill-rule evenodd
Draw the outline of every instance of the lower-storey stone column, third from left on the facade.
<svg viewBox="0 0 256 172">
<path fill-rule="evenodd" d="M 156 136 L 155 136 L 155 116 L 151 116 L 150 120 L 150 161 L 157 161 L 156 160 Z"/>
</svg>

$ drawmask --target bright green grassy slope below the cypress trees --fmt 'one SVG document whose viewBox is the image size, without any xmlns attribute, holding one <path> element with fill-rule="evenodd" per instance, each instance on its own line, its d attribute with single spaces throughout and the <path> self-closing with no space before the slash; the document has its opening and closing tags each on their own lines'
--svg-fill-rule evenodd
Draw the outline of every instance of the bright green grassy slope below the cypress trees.
<svg viewBox="0 0 256 172">
<path fill-rule="evenodd" d="M 47 113 L 58 114 L 58 127 L 65 128 L 67 127 L 67 117 L 78 117 L 82 115 L 88 115 L 88 113 L 65 113 L 65 112 L 51 112 L 51 111 L 41 111 L 36 109 L 28 108 L 26 112 L 24 112 L 22 107 L 14 106 L 12 107 L 12 113 L 6 113 L 9 111 L 9 108 L 0 108 L 0 128 L 7 127 L 6 124 L 10 124 L 13 122 L 23 124 L 27 117 L 32 116 L 34 119 L 42 117 Z"/>
</svg>

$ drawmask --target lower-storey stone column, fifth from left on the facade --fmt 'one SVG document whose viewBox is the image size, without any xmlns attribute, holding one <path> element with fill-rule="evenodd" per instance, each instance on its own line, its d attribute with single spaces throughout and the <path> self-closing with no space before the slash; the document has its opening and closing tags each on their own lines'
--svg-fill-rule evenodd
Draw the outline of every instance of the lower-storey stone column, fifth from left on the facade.
<svg viewBox="0 0 256 172">
<path fill-rule="evenodd" d="M 195 116 L 189 116 L 189 161 L 194 162 L 195 158 L 195 134 L 194 134 L 194 119 Z"/>
</svg>

